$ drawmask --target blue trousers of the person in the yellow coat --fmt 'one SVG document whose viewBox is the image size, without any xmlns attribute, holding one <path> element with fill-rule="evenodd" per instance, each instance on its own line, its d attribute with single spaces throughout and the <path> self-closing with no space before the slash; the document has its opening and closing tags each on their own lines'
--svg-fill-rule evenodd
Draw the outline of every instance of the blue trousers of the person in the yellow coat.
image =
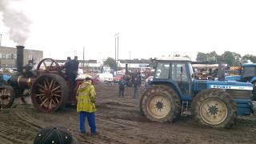
<svg viewBox="0 0 256 144">
<path fill-rule="evenodd" d="M 80 132 L 86 133 L 86 127 L 85 127 L 86 117 L 89 122 L 90 133 L 93 133 L 93 134 L 96 133 L 95 115 L 94 113 L 89 113 L 85 111 L 79 112 Z"/>
</svg>

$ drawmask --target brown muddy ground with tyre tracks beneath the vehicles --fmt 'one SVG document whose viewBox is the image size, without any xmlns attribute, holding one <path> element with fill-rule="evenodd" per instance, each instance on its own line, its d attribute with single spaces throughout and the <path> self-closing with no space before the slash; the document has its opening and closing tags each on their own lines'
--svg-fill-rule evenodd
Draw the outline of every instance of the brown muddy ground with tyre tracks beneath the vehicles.
<svg viewBox="0 0 256 144">
<path fill-rule="evenodd" d="M 139 98 L 132 98 L 131 89 L 126 90 L 125 98 L 118 98 L 118 86 L 97 85 L 96 92 L 99 135 L 78 134 L 74 107 L 43 114 L 16 100 L 13 108 L 0 111 L 0 143 L 32 143 L 38 130 L 47 126 L 69 128 L 80 143 L 256 143 L 255 116 L 239 117 L 228 130 L 200 126 L 191 118 L 179 118 L 174 123 L 150 122 L 139 114 Z"/>
</svg>

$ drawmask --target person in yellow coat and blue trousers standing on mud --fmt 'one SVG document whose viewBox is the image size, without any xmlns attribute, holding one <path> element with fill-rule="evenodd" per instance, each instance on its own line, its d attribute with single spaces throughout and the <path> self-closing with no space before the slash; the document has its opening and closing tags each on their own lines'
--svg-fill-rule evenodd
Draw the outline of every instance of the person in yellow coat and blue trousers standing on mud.
<svg viewBox="0 0 256 144">
<path fill-rule="evenodd" d="M 90 134 L 98 134 L 96 132 L 94 114 L 96 111 L 96 92 L 89 77 L 86 77 L 85 81 L 78 87 L 76 98 L 78 100 L 77 111 L 79 113 L 80 133 L 86 133 L 85 119 L 87 117 L 90 126 Z"/>
</svg>

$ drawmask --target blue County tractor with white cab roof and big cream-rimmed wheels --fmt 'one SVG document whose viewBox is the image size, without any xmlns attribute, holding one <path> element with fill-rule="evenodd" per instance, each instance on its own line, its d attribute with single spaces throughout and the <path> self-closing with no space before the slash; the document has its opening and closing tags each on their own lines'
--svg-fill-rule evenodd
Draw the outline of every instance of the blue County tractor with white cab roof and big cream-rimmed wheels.
<svg viewBox="0 0 256 144">
<path fill-rule="evenodd" d="M 152 64 L 154 78 L 140 100 L 142 113 L 151 121 L 192 115 L 202 125 L 230 128 L 237 115 L 253 113 L 249 82 L 196 80 L 188 58 L 154 58 Z"/>
</svg>

